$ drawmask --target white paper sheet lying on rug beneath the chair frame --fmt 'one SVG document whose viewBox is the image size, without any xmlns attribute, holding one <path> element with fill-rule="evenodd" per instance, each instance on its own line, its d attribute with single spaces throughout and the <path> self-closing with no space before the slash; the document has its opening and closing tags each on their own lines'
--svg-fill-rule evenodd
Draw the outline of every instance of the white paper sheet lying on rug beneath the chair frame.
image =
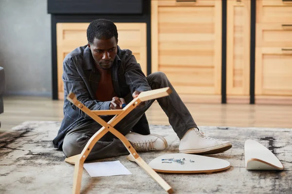
<svg viewBox="0 0 292 194">
<path fill-rule="evenodd" d="M 83 167 L 91 177 L 109 177 L 132 174 L 120 161 L 84 163 Z"/>
</svg>

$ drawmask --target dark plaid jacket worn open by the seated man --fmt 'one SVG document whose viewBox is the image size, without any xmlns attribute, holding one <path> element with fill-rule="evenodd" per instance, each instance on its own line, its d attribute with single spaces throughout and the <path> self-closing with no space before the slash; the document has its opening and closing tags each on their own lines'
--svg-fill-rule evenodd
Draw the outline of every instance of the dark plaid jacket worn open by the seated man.
<svg viewBox="0 0 292 194">
<path fill-rule="evenodd" d="M 110 70 L 113 89 L 117 97 L 126 97 L 136 90 L 151 90 L 140 64 L 137 63 L 134 55 L 128 49 L 118 47 Z M 101 102 L 95 97 L 100 73 L 94 65 L 91 50 L 87 45 L 74 49 L 65 57 L 62 79 L 65 99 L 64 118 L 57 136 L 53 140 L 54 147 L 61 150 L 66 132 L 91 119 L 66 99 L 70 92 L 73 92 L 77 99 L 90 110 L 109 110 L 110 107 L 110 101 Z"/>
</svg>

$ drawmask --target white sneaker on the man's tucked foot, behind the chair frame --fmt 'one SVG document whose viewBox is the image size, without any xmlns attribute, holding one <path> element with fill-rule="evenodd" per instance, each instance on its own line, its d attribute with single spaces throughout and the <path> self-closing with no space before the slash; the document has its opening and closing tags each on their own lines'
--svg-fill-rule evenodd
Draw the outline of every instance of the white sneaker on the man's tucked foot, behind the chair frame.
<svg viewBox="0 0 292 194">
<path fill-rule="evenodd" d="M 167 147 L 164 137 L 157 134 L 141 135 L 129 132 L 125 137 L 136 151 L 161 151 Z"/>
</svg>

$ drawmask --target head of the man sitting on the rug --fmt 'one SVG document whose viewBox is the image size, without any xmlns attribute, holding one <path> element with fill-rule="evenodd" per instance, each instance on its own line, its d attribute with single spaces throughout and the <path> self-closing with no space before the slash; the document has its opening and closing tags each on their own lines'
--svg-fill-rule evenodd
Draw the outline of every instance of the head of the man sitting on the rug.
<svg viewBox="0 0 292 194">
<path fill-rule="evenodd" d="M 109 69 L 117 54 L 118 31 L 107 19 L 97 19 L 87 28 L 88 46 L 98 68 Z"/>
</svg>

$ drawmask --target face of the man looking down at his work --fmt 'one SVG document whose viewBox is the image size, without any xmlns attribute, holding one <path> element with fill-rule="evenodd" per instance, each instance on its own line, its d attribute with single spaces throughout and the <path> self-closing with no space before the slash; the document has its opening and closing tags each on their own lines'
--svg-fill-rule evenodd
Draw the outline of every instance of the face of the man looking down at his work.
<svg viewBox="0 0 292 194">
<path fill-rule="evenodd" d="M 115 37 L 107 40 L 94 38 L 93 43 L 88 46 L 97 68 L 110 69 L 118 50 Z"/>
</svg>

